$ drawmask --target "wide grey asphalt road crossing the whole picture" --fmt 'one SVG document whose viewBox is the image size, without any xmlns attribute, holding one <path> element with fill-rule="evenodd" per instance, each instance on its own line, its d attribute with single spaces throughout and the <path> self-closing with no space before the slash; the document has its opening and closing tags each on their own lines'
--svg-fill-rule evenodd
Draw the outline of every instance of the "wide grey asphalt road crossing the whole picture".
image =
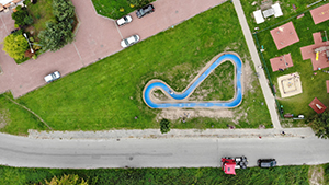
<svg viewBox="0 0 329 185">
<path fill-rule="evenodd" d="M 246 155 L 279 165 L 329 162 L 329 140 L 265 139 L 112 139 L 43 140 L 0 134 L 0 164 L 27 167 L 218 167 L 220 157 Z"/>
</svg>

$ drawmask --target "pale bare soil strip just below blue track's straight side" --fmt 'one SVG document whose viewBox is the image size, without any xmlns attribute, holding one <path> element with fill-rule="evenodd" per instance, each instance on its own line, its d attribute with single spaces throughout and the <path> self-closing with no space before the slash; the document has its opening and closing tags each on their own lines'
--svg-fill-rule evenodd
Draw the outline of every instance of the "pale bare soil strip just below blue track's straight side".
<svg viewBox="0 0 329 185">
<path fill-rule="evenodd" d="M 162 118 L 175 120 L 182 117 L 212 117 L 212 118 L 232 118 L 234 112 L 231 109 L 182 109 L 182 108 L 167 108 L 162 109 L 156 117 L 157 120 Z"/>
</svg>

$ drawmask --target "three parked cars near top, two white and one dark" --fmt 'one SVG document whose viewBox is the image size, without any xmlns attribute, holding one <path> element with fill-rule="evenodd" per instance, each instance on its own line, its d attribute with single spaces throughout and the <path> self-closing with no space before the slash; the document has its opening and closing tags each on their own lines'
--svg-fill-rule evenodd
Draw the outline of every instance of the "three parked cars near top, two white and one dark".
<svg viewBox="0 0 329 185">
<path fill-rule="evenodd" d="M 141 9 L 138 9 L 136 11 L 136 15 L 137 15 L 137 18 L 140 19 L 140 18 L 143 18 L 143 16 L 145 16 L 145 15 L 147 15 L 147 14 L 154 12 L 154 11 L 155 11 L 155 7 L 152 4 L 148 4 L 148 5 L 145 5 Z M 117 26 L 123 26 L 125 24 L 128 24 L 132 21 L 133 21 L 133 18 L 131 15 L 125 15 L 125 16 L 116 20 L 116 24 L 117 24 Z M 128 47 L 128 46 L 132 46 L 133 44 L 138 43 L 139 39 L 140 39 L 140 37 L 138 35 L 129 36 L 129 37 L 121 41 L 121 46 L 124 47 L 124 48 Z"/>
</svg>

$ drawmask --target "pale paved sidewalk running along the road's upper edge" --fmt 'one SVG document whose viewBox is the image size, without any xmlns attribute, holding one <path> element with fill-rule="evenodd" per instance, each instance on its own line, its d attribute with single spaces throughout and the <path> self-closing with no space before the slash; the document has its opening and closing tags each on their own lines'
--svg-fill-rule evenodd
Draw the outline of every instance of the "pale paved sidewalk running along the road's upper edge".
<svg viewBox="0 0 329 185">
<path fill-rule="evenodd" d="M 284 131 L 284 135 L 282 134 Z M 33 139 L 127 139 L 127 138 L 311 138 L 311 128 L 279 129 L 171 129 L 162 135 L 159 129 L 103 131 L 37 131 L 29 130 Z"/>
</svg>

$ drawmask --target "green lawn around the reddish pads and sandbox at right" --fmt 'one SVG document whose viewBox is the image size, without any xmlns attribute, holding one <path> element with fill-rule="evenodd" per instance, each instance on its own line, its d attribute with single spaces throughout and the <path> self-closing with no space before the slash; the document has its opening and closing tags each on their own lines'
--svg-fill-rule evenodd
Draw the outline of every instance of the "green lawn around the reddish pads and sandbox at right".
<svg viewBox="0 0 329 185">
<path fill-rule="evenodd" d="M 265 51 L 262 53 L 264 56 L 264 61 L 270 71 L 269 72 L 270 77 L 277 90 L 276 100 L 283 106 L 284 114 L 287 114 L 287 113 L 294 114 L 294 115 L 303 114 L 307 118 L 311 118 L 316 114 L 308 106 L 308 104 L 313 101 L 314 97 L 318 97 L 325 105 L 329 105 L 329 99 L 328 99 L 328 94 L 326 91 L 326 82 L 325 82 L 326 80 L 329 80 L 329 76 L 321 71 L 317 71 L 317 76 L 313 76 L 314 71 L 313 71 L 311 61 L 303 60 L 299 48 L 303 46 L 308 46 L 308 45 L 314 44 L 313 33 L 324 32 L 324 31 L 328 32 L 329 31 L 329 28 L 328 28 L 329 22 L 326 21 L 326 22 L 315 25 L 314 21 L 311 19 L 311 15 L 308 11 L 304 13 L 305 14 L 304 18 L 300 18 L 300 19 L 293 18 L 293 19 L 286 20 L 284 22 L 282 22 L 282 20 L 287 19 L 288 16 L 297 15 L 298 12 L 305 11 L 306 4 L 309 4 L 310 2 L 313 2 L 313 1 L 303 1 L 303 2 L 302 1 L 299 1 L 299 2 L 291 1 L 291 3 L 288 3 L 288 4 L 292 4 L 292 3 L 297 4 L 297 7 L 298 7 L 298 9 L 296 10 L 297 12 L 295 10 L 291 10 L 291 7 L 287 8 L 287 5 L 286 5 L 287 2 L 285 2 L 284 5 L 282 5 L 284 14 L 286 13 L 285 16 L 283 16 L 282 19 L 277 19 L 277 20 L 273 20 L 274 18 L 272 18 L 271 21 L 269 21 L 269 22 L 265 21 L 264 24 L 262 23 L 262 24 L 258 25 L 261 28 L 260 28 L 260 32 L 257 34 L 260 45 L 264 46 Z M 321 4 L 321 3 L 319 3 L 319 4 Z M 245 4 L 247 4 L 246 1 L 245 1 Z M 245 11 L 247 12 L 246 14 L 248 15 L 248 12 L 251 11 L 250 5 L 249 7 L 246 5 Z M 297 35 L 299 37 L 299 42 L 296 44 L 293 44 L 288 47 L 285 47 L 281 50 L 277 50 L 277 48 L 273 42 L 273 38 L 270 34 L 270 30 L 272 30 L 279 25 L 282 25 L 286 22 L 290 22 L 290 21 L 293 22 L 293 24 L 296 28 Z M 280 24 L 276 24 L 279 22 L 280 22 Z M 262 30 L 264 27 L 268 27 L 270 24 L 274 24 L 274 26 L 272 26 L 268 30 Z M 251 16 L 249 16 L 249 25 L 251 27 L 256 26 L 256 23 L 253 23 L 253 19 Z M 281 71 L 272 72 L 270 59 L 277 57 L 277 56 L 282 56 L 284 54 L 288 54 L 288 53 L 291 53 L 291 55 L 292 55 L 294 66 L 288 68 L 284 72 L 281 72 Z M 280 92 L 279 92 L 279 86 L 277 86 L 277 77 L 283 76 L 283 74 L 288 74 L 292 72 L 299 72 L 300 80 L 302 80 L 303 93 L 299 95 L 296 95 L 296 96 L 281 99 Z M 296 122 L 296 123 L 299 123 L 299 122 Z"/>
</svg>

